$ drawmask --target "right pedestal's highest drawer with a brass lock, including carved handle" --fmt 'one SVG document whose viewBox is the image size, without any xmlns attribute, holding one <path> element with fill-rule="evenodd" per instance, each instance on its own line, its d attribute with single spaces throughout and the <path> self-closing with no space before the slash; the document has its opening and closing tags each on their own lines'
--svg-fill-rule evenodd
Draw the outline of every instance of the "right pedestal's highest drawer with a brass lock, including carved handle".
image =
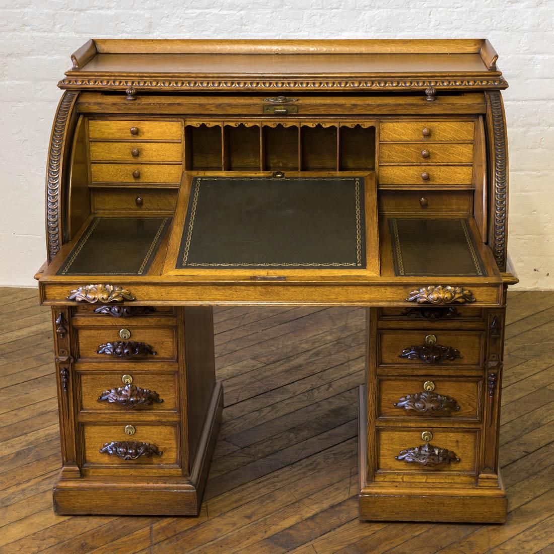
<svg viewBox="0 0 554 554">
<path fill-rule="evenodd" d="M 378 331 L 379 365 L 473 366 L 483 363 L 483 332 Z"/>
</svg>

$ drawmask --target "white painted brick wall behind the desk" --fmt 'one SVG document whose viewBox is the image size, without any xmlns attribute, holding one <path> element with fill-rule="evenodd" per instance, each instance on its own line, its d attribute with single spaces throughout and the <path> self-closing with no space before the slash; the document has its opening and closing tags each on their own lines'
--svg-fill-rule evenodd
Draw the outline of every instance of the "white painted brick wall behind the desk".
<svg viewBox="0 0 554 554">
<path fill-rule="evenodd" d="M 553 22 L 552 0 L 0 0 L 0 284 L 45 259 L 56 83 L 89 38 L 488 38 L 510 83 L 510 254 L 519 288 L 553 289 Z"/>
</svg>

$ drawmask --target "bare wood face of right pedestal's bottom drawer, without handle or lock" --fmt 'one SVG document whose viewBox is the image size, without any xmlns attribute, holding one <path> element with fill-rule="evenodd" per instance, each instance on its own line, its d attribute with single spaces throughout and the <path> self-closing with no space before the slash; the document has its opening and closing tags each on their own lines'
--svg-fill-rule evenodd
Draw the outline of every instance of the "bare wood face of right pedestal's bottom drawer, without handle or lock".
<svg viewBox="0 0 554 554">
<path fill-rule="evenodd" d="M 435 447 L 451 450 L 460 458 L 460 461 L 432 467 L 395 459 L 395 456 L 401 450 L 425 444 L 421 434 L 426 430 L 430 430 L 433 433 L 433 439 L 430 440 L 430 444 Z M 475 473 L 476 449 L 478 448 L 477 439 L 478 432 L 474 429 L 450 430 L 423 426 L 417 429 L 379 429 L 377 432 L 378 471 Z"/>
</svg>

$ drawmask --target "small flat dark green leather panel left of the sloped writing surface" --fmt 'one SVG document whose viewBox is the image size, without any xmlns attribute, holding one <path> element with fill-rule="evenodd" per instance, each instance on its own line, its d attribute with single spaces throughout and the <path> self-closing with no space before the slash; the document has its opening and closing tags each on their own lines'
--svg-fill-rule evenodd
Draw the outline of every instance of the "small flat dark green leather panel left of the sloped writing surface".
<svg viewBox="0 0 554 554">
<path fill-rule="evenodd" d="M 145 275 L 170 217 L 95 217 L 58 275 Z"/>
</svg>

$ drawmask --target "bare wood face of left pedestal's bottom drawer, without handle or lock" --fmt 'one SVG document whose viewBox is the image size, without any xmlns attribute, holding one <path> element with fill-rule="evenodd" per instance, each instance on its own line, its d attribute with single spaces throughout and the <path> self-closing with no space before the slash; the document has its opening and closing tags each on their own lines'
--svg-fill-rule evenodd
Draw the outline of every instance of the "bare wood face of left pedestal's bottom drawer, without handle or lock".
<svg viewBox="0 0 554 554">
<path fill-rule="evenodd" d="M 124 431 L 127 424 L 129 423 L 82 425 L 85 466 L 163 466 L 179 463 L 178 425 L 137 423 L 134 425 L 135 434 L 130 436 Z M 141 456 L 136 460 L 121 460 L 116 455 L 99 452 L 105 443 L 110 443 L 112 440 L 155 444 L 158 450 L 161 450 L 162 455 L 150 458 Z"/>
</svg>

